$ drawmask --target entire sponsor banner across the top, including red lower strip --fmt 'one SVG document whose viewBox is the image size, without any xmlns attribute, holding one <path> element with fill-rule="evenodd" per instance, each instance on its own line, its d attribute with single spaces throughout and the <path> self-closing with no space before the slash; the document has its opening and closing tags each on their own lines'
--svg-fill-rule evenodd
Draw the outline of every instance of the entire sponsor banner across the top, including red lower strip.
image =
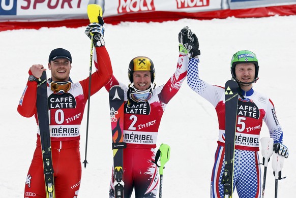
<svg viewBox="0 0 296 198">
<path fill-rule="evenodd" d="M 88 4 L 100 5 L 111 24 L 296 14 L 296 0 L 0 0 L 0 31 L 83 26 Z"/>
</svg>

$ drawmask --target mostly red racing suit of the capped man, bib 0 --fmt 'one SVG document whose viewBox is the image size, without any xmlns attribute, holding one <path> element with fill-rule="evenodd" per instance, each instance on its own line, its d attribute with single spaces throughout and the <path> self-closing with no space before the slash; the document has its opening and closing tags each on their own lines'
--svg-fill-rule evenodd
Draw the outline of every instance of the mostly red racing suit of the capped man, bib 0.
<svg viewBox="0 0 296 198">
<path fill-rule="evenodd" d="M 105 47 L 94 49 L 96 72 L 92 74 L 91 95 L 99 91 L 111 78 L 112 68 Z M 29 75 L 32 75 L 29 71 Z M 63 94 L 50 89 L 51 79 L 47 80 L 47 95 L 50 121 L 50 137 L 54 184 L 56 197 L 77 197 L 81 180 L 79 152 L 80 124 L 88 98 L 89 77 L 71 83 L 71 89 Z M 18 112 L 24 117 L 35 115 L 36 122 L 37 82 L 28 81 L 18 105 Z M 37 133 L 37 147 L 25 183 L 24 197 L 45 197 L 45 182 L 41 144 Z"/>
</svg>

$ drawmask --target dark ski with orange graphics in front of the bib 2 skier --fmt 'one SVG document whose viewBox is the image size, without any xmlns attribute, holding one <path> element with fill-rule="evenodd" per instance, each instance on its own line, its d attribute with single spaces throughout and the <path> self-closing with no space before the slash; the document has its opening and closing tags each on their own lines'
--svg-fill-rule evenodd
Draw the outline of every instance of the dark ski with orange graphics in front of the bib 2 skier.
<svg viewBox="0 0 296 198">
<path fill-rule="evenodd" d="M 114 195 L 115 198 L 124 197 L 123 182 L 123 149 L 124 143 L 124 90 L 120 86 L 113 86 L 109 90 L 110 120 L 112 128 L 112 149 L 114 167 Z"/>
</svg>

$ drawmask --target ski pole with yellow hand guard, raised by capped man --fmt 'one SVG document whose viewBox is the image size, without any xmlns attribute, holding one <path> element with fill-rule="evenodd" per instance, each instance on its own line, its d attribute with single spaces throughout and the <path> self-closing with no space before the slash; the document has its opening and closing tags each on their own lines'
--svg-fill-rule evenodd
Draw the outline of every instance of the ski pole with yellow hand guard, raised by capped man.
<svg viewBox="0 0 296 198">
<path fill-rule="evenodd" d="M 98 16 L 102 16 L 102 8 L 97 4 L 90 4 L 87 6 L 87 16 L 91 23 L 98 23 Z M 94 38 L 92 35 L 91 41 L 91 55 L 90 55 L 90 82 L 88 83 L 88 102 L 87 102 L 87 121 L 86 121 L 86 139 L 85 139 L 85 158 L 84 158 L 84 169 L 86 168 L 86 154 L 87 154 L 87 139 L 88 139 L 88 121 L 90 118 L 90 104 L 91 104 L 91 82 L 92 82 L 92 67 L 93 67 L 93 49 L 94 49 Z"/>
</svg>

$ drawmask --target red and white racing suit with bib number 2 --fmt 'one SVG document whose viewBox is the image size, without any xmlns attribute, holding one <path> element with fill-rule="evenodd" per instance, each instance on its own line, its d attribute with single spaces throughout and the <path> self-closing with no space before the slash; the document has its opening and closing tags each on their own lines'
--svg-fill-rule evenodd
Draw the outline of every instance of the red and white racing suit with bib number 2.
<svg viewBox="0 0 296 198">
<path fill-rule="evenodd" d="M 188 56 L 179 55 L 175 73 L 165 83 L 155 88 L 150 100 L 128 103 L 129 88 L 119 83 L 115 77 L 105 86 L 107 91 L 113 85 L 120 85 L 125 91 L 124 105 L 124 197 L 131 197 L 135 188 L 136 197 L 156 197 L 158 171 L 155 148 L 158 128 L 167 103 L 179 91 L 187 75 Z M 113 170 L 109 197 L 114 197 Z"/>
</svg>

